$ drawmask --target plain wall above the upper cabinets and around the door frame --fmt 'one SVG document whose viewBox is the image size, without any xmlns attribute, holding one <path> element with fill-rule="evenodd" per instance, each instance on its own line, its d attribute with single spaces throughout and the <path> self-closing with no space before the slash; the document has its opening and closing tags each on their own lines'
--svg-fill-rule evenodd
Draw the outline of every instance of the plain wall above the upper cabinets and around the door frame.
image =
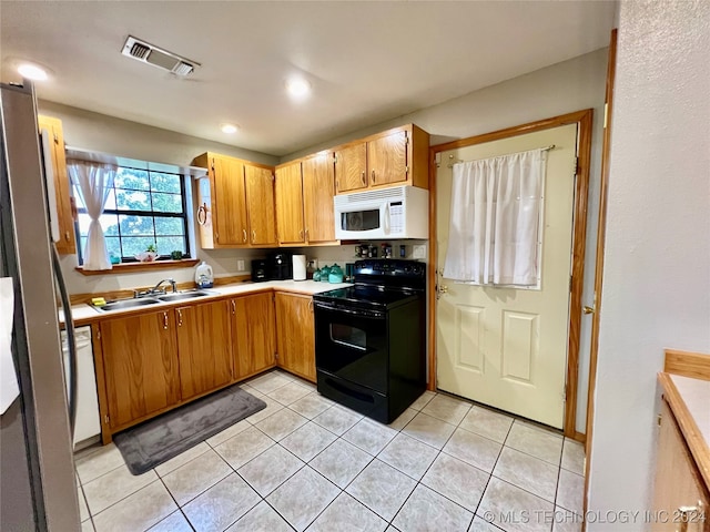
<svg viewBox="0 0 710 532">
<path fill-rule="evenodd" d="M 471 92 L 412 114 L 359 130 L 282 157 L 282 162 L 337 144 L 377 133 L 387 127 L 415 123 L 432 133 L 432 144 L 440 144 L 488 133 L 540 119 L 594 108 L 591 175 L 587 215 L 587 254 L 582 305 L 592 305 L 597 219 L 599 213 L 599 177 L 601 133 L 608 50 L 598 50 L 497 85 Z M 455 68 L 455 66 L 452 66 Z M 424 74 L 426 75 L 426 74 Z M 577 430 L 586 432 L 587 388 L 589 382 L 589 345 L 591 318 L 582 317 L 579 342 L 579 395 Z"/>
</svg>

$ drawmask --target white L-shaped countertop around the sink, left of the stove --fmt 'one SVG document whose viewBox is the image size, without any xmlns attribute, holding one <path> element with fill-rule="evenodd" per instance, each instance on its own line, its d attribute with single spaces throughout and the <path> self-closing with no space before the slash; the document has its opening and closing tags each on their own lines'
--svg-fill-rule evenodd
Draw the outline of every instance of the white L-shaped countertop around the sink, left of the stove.
<svg viewBox="0 0 710 532">
<path fill-rule="evenodd" d="M 304 294 L 304 295 L 313 295 L 320 294 L 322 291 L 334 290 L 336 288 L 344 288 L 346 286 L 352 286 L 349 283 L 316 283 L 315 280 L 268 280 L 265 283 L 235 283 L 232 285 L 221 285 L 215 286 L 214 288 L 210 288 L 209 291 L 214 293 L 214 296 L 205 296 L 199 299 L 192 299 L 191 303 L 201 303 L 209 301 L 212 298 L 224 297 L 224 296 L 236 296 L 243 294 L 250 294 L 254 291 L 263 291 L 263 290 L 283 290 L 291 291 L 295 294 Z M 95 297 L 101 297 L 101 294 L 97 294 Z M 181 301 L 180 304 L 184 305 L 185 301 Z M 176 303 L 158 303 L 155 305 L 150 305 L 148 307 L 142 307 L 141 310 L 153 310 L 160 307 L 174 307 Z M 120 316 L 126 313 L 134 313 L 135 308 L 128 308 L 124 310 L 115 310 L 111 313 L 101 313 L 97 310 L 91 305 L 80 304 L 72 305 L 71 314 L 77 325 L 84 325 L 91 321 L 97 321 L 99 319 L 106 319 L 109 317 Z M 59 310 L 59 321 L 60 324 L 64 323 L 64 313 Z"/>
</svg>

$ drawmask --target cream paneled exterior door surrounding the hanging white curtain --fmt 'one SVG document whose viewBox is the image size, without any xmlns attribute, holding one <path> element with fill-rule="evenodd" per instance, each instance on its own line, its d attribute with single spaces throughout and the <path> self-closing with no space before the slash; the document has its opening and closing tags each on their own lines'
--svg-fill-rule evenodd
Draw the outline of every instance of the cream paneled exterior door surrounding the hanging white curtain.
<svg viewBox="0 0 710 532">
<path fill-rule="evenodd" d="M 577 125 L 442 153 L 437 171 L 437 270 L 448 245 L 450 161 L 555 144 L 548 152 L 538 288 L 481 287 L 439 276 L 437 387 L 562 428 L 569 326 Z"/>
</svg>

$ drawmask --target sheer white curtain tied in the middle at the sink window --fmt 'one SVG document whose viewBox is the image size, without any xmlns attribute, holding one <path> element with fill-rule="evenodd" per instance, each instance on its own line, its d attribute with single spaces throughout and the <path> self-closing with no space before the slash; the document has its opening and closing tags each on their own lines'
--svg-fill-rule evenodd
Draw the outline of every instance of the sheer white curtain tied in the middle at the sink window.
<svg viewBox="0 0 710 532">
<path fill-rule="evenodd" d="M 87 206 L 91 218 L 84 248 L 84 269 L 111 269 L 103 228 L 99 218 L 103 214 L 109 193 L 113 187 L 116 167 L 111 164 L 89 161 L 69 161 L 68 170 L 72 183 Z"/>
</svg>

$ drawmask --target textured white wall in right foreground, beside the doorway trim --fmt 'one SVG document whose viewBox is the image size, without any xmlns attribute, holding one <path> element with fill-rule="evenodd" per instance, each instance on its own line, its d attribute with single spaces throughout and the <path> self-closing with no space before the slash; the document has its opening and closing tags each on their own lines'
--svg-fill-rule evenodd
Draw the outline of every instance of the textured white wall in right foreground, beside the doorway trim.
<svg viewBox="0 0 710 532">
<path fill-rule="evenodd" d="M 709 2 L 620 3 L 594 511 L 649 508 L 663 348 L 710 351 L 708 58 Z"/>
</svg>

